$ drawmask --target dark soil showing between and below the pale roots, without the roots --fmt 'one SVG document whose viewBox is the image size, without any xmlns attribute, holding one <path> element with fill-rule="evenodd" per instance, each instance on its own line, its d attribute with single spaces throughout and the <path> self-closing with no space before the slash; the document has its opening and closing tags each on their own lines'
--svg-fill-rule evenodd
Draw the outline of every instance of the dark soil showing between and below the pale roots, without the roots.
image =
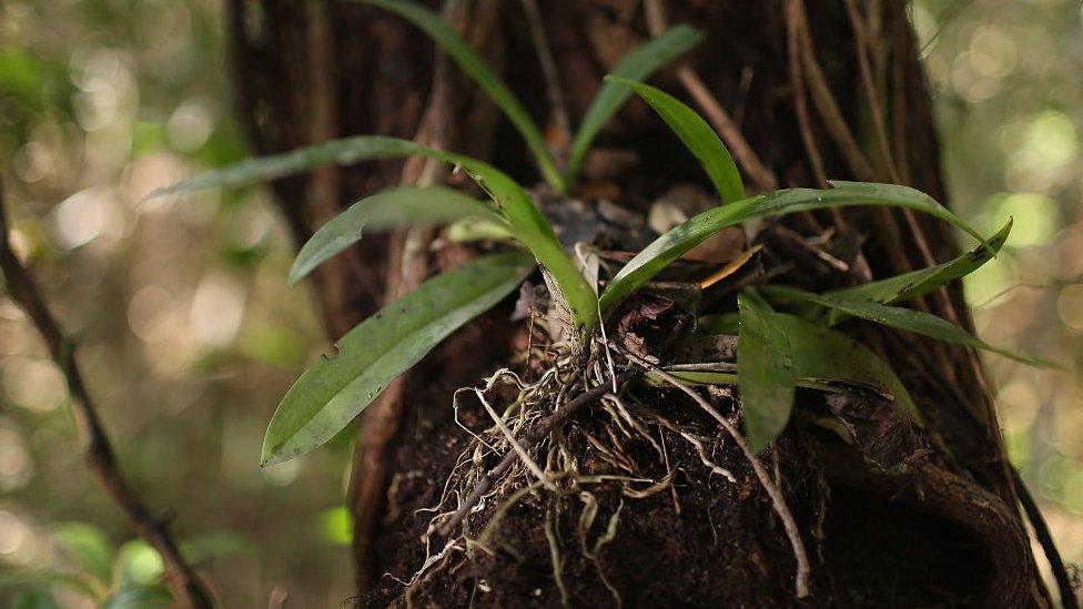
<svg viewBox="0 0 1083 609">
<path fill-rule="evenodd" d="M 475 339 L 480 333 L 479 328 L 470 331 Z M 470 336 L 455 341 L 451 352 L 469 342 Z M 362 606 L 560 606 L 544 529 L 546 518 L 553 515 L 558 524 L 563 582 L 574 607 L 616 606 L 599 571 L 626 607 L 955 607 L 972 605 L 984 595 L 990 577 L 985 559 L 989 549 L 979 539 L 957 522 L 892 503 L 878 493 L 829 485 L 814 451 L 816 443 L 827 436 L 818 430 L 791 429 L 779 443 L 780 473 L 812 560 L 812 596 L 804 601 L 796 599 L 790 545 L 740 450 L 686 396 L 640 386 L 632 393 L 642 396 L 645 403 L 711 438 L 711 459 L 730 469 L 736 484 L 712 474 L 680 436 L 662 432 L 670 466 L 678 470 L 675 487 L 679 508 L 669 489 L 634 499 L 621 497 L 621 486 L 616 483 L 588 487 L 600 504 L 589 545 L 605 532 L 618 507 L 621 510 L 616 538 L 603 546 L 597 564 L 584 556 L 577 535 L 584 503 L 574 494 L 556 498 L 537 491 L 505 514 L 487 544 L 488 552 L 453 555 L 415 585 L 407 602 L 404 586 L 396 578 L 408 580 L 419 568 L 424 559 L 419 539 L 433 515 L 416 510 L 437 504 L 449 475 L 448 464 L 469 440 L 446 415 L 438 414 L 442 408 L 449 409 L 449 386 L 417 389 L 421 395 L 411 408 L 396 455 L 403 469 L 388 496 L 387 511 L 394 519 L 377 538 L 377 556 L 391 560 L 381 561 L 386 575 L 361 600 Z M 439 394 L 445 396 L 443 400 Z M 728 398 L 716 403 L 732 413 Z M 597 422 L 607 416 L 597 408 L 588 409 L 566 429 L 585 475 L 613 473 L 583 439 L 584 432 L 597 437 Z M 468 404 L 464 404 L 460 419 L 475 429 L 487 425 L 484 412 Z M 657 429 L 650 427 L 652 433 Z M 642 467 L 644 477 L 657 480 L 666 475 L 647 441 L 630 441 L 625 447 Z M 539 461 L 544 460 L 544 450 Z M 765 460 L 771 467 L 771 461 Z M 468 518 L 472 536 L 478 535 L 495 510 L 495 503 L 490 503 Z M 435 541 L 434 548 L 442 544 Z"/>
</svg>

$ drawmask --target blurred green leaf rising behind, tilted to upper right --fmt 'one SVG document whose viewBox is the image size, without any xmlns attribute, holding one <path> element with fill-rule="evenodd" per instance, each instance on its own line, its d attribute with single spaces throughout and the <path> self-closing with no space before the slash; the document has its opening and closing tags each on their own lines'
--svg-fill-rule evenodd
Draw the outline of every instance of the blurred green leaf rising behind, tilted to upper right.
<svg viewBox="0 0 1083 609">
<path fill-rule="evenodd" d="M 646 80 L 656 70 L 682 55 L 702 40 L 702 32 L 688 26 L 674 26 L 658 37 L 628 51 L 617 62 L 613 69 L 613 74 L 634 81 Z M 571 142 L 571 155 L 568 159 L 566 179 L 568 184 L 575 183 L 576 175 L 579 173 L 583 161 L 587 158 L 587 151 L 590 150 L 590 144 L 598 135 L 598 131 L 609 122 L 617 110 L 620 110 L 629 95 L 631 95 L 631 91 L 624 84 L 606 82 L 601 85 L 598 95 L 587 109 L 587 113 L 583 115 L 583 123 L 579 124 L 579 130 L 576 131 L 575 140 Z"/>
</svg>

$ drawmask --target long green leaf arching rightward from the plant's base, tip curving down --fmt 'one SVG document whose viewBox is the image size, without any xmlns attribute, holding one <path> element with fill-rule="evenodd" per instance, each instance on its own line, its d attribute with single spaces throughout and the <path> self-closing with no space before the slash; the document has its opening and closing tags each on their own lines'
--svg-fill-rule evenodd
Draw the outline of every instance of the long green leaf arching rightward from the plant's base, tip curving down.
<svg viewBox="0 0 1083 609">
<path fill-rule="evenodd" d="M 793 212 L 846 207 L 852 205 L 890 205 L 928 213 L 983 241 L 976 231 L 929 195 L 907 186 L 864 182 L 831 182 L 828 190 L 789 189 L 775 191 L 707 210 L 659 236 L 621 268 L 601 294 L 601 309 L 607 311 L 639 290 L 704 240 L 727 226 L 747 220 Z"/>
</svg>

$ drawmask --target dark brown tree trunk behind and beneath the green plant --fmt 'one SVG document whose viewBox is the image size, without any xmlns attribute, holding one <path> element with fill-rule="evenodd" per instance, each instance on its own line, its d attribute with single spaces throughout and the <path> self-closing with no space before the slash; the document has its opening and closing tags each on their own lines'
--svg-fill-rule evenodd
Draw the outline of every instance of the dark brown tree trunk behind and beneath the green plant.
<svg viewBox="0 0 1083 609">
<path fill-rule="evenodd" d="M 750 190 L 771 187 L 772 180 L 779 187 L 819 186 L 827 176 L 909 183 L 944 200 L 930 102 L 902 0 L 682 0 L 666 8 L 670 22 L 708 34 L 688 65 L 762 161 L 758 175 L 755 165 L 742 166 Z M 648 35 L 644 6 L 546 0 L 540 9 L 575 122 L 601 77 Z M 453 1 L 447 13 L 544 123 L 549 99 L 524 3 Z M 406 22 L 352 2 L 231 0 L 230 26 L 239 111 L 256 152 L 353 134 L 419 136 L 489 159 L 520 183 L 537 182 L 510 125 Z M 859 53 L 866 53 L 864 65 Z M 704 98 L 686 94 L 685 77 L 669 69 L 652 82 L 700 108 Z M 726 136 L 730 148 L 733 136 Z M 674 185 L 707 184 L 692 156 L 638 102 L 603 132 L 600 148 L 580 199 L 606 197 L 644 213 Z M 417 174 L 409 163 L 379 162 L 283 180 L 274 190 L 301 243 L 346 204 Z M 895 212 L 802 214 L 783 224 L 807 236 L 833 229 L 840 241 L 863 238 L 861 260 L 875 277 L 958 254 L 944 224 Z M 769 234 L 769 248 L 785 253 L 792 234 Z M 463 248 L 431 253 L 429 236 L 366 236 L 322 267 L 316 291 L 328 334 L 337 337 L 386 295 L 468 255 Z M 791 277 L 816 287 L 843 285 L 861 274 L 861 260 L 851 261 L 857 271 L 850 274 L 798 264 Z M 614 595 L 630 606 L 1047 602 L 980 363 L 968 351 L 872 326 L 859 326 L 854 336 L 907 382 L 927 422 L 918 432 L 925 448 L 878 467 L 860 447 L 796 420 L 765 457 L 780 476 L 808 548 L 808 598 L 794 597 L 794 554 L 771 503 L 741 453 L 721 437 L 710 445 L 711 458 L 736 481 L 712 475 L 690 445 L 675 441 L 666 448 L 666 469 L 655 457 L 659 463 L 644 471 L 655 479 L 676 471 L 671 488 L 642 498 L 621 497 L 619 485 L 596 490 L 593 499 L 529 495 L 503 514 L 484 548 L 447 552 L 404 591 L 399 580 L 425 559 L 418 539 L 433 516 L 417 510 L 441 500 L 469 440 L 453 418 L 452 393 L 514 367 L 510 358 L 526 342 L 524 324 L 507 321 L 510 305 L 448 339 L 364 415 L 351 498 L 364 602 L 553 606 L 564 597 L 587 606 L 609 605 Z M 920 306 L 970 326 L 958 287 Z M 680 417 L 686 402 L 658 392 L 649 406 Z M 460 416 L 467 426 L 486 420 L 476 405 L 464 406 Z M 594 416 L 608 415 L 587 413 L 578 425 L 588 432 Z M 645 463 L 654 455 L 649 444 L 628 449 Z M 596 457 L 591 450 L 577 448 L 585 468 Z M 580 548 L 577 531 L 584 501 L 593 500 L 598 511 L 586 531 L 590 545 L 610 519 L 617 524 L 616 536 L 597 554 Z M 475 536 L 494 511 L 489 505 L 470 517 Z M 442 545 L 434 537 L 432 552 Z"/>
</svg>

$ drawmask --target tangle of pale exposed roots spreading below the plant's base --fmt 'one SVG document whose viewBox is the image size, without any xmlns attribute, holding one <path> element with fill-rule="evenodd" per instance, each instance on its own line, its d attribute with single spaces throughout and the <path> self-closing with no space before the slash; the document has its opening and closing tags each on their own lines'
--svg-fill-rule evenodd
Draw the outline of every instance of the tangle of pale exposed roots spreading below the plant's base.
<svg viewBox="0 0 1083 609">
<path fill-rule="evenodd" d="M 613 361 L 617 354 L 624 356 L 620 362 Z M 434 571 L 446 568 L 453 562 L 453 554 L 462 552 L 466 559 L 475 552 L 496 557 L 502 550 L 492 545 L 496 530 L 514 507 L 533 497 L 534 505 L 542 501 L 546 506 L 543 525 L 555 586 L 561 602 L 571 603 L 573 591 L 564 578 L 569 547 L 560 538 L 559 514 L 567 507 L 567 499 L 574 497 L 581 504 L 574 528 L 578 538 L 576 551 L 593 564 L 599 580 L 619 606 L 620 596 L 606 578 L 600 552 L 617 537 L 624 498 L 642 500 L 671 493 L 674 509 L 680 510 L 675 485 L 679 470 L 669 463 L 666 434 L 671 433 L 695 448 L 707 471 L 732 484 L 738 481 L 732 471 L 711 459 L 709 440 L 701 437 L 695 425 L 675 423 L 657 409 L 641 406 L 635 396 L 621 394 L 624 385 L 647 369 L 694 397 L 745 454 L 793 547 L 798 565 L 797 595 L 799 598 L 808 596 L 808 558 L 779 481 L 771 478 L 733 424 L 646 356 L 629 353 L 601 337 L 589 345 L 587 355 L 579 359 L 549 351 L 549 366 L 537 380 L 526 382 L 508 369 L 500 369 L 485 379 L 484 385 L 455 393 L 456 424 L 469 434 L 472 440 L 456 459 L 439 503 L 426 510 L 435 515 L 423 536 L 425 560 L 409 580 L 403 581 L 407 591 L 432 578 Z M 478 429 L 476 423 L 459 419 L 460 399 L 469 395 L 476 397 L 480 410 L 488 415 L 489 427 Z M 601 403 L 597 410 L 601 416 L 590 417 L 580 426 L 566 426 L 574 415 L 596 402 Z M 644 463 L 645 449 L 650 463 Z M 656 459 L 649 458 L 651 453 Z M 497 455 L 503 455 L 500 460 L 486 470 L 486 463 L 492 463 Z M 598 490 L 591 489 L 607 485 L 618 487 L 620 507 L 609 515 L 605 531 L 591 542 L 591 529 L 600 511 Z M 472 531 L 467 517 L 482 512 L 488 514 L 487 520 L 479 531 Z M 438 552 L 432 549 L 436 535 L 446 539 Z M 503 551 L 514 552 L 506 547 Z M 480 582 L 478 590 L 485 592 Z"/>
</svg>

